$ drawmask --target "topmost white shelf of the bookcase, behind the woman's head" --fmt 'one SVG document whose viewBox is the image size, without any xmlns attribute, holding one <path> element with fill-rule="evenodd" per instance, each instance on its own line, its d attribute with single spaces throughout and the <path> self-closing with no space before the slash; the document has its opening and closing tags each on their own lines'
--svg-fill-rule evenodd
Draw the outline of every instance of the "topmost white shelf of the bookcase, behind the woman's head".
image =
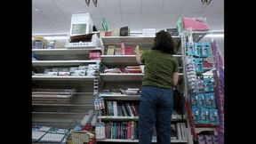
<svg viewBox="0 0 256 144">
<path fill-rule="evenodd" d="M 180 41 L 180 36 L 172 36 L 175 42 Z M 155 36 L 101 36 L 103 44 L 150 44 L 153 45 Z"/>
</svg>

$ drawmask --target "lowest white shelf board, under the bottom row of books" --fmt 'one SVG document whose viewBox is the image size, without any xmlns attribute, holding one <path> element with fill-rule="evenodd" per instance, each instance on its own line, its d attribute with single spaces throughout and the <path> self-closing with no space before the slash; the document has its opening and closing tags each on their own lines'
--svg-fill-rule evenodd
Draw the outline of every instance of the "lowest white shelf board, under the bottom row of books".
<svg viewBox="0 0 256 144">
<path fill-rule="evenodd" d="M 124 140 L 124 139 L 104 139 L 104 140 L 97 140 L 99 142 L 139 142 L 139 140 Z M 152 142 L 156 143 L 156 139 L 153 139 Z M 171 140 L 171 143 L 186 143 L 188 140 Z"/>
</svg>

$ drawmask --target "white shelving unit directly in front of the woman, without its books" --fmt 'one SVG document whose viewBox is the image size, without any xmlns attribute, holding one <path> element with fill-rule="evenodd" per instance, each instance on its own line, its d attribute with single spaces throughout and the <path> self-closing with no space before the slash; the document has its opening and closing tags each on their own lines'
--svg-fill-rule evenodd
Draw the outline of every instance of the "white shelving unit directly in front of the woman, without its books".
<svg viewBox="0 0 256 144">
<path fill-rule="evenodd" d="M 180 36 L 172 36 L 174 39 L 174 43 L 178 44 L 180 42 Z M 116 47 L 119 47 L 121 43 L 124 43 L 125 45 L 139 45 L 142 50 L 148 50 L 153 46 L 155 37 L 143 37 L 143 36 L 103 36 L 102 42 L 104 44 L 105 49 L 108 48 L 109 44 L 117 45 Z M 105 52 L 107 52 L 105 50 Z M 177 54 L 174 55 L 175 57 L 179 58 L 179 60 L 182 60 L 182 55 Z M 138 65 L 136 62 L 136 55 L 101 55 L 101 62 L 103 65 L 106 65 L 108 67 L 117 67 L 117 66 L 136 66 Z M 180 69 L 183 67 L 180 66 Z M 100 74 L 100 81 L 103 83 L 104 86 L 109 86 L 111 88 L 118 87 L 118 84 L 128 84 L 132 87 L 132 84 L 140 85 L 142 82 L 144 74 L 142 73 L 101 73 Z M 183 73 L 180 72 L 180 77 L 183 76 Z M 110 84 L 110 85 L 108 85 Z M 104 93 L 100 97 L 104 100 L 108 101 L 137 101 L 140 100 L 140 95 L 125 95 L 125 94 L 107 94 Z M 185 122 L 187 116 L 183 116 L 183 119 L 181 119 L 180 115 L 173 114 L 172 115 L 172 121 L 173 122 Z M 127 121 L 136 121 L 138 122 L 139 116 L 98 116 L 98 119 L 100 119 L 102 122 L 127 122 Z M 100 142 L 131 142 L 131 143 L 138 143 L 139 140 L 121 140 L 121 139 L 105 139 L 105 140 L 97 140 Z M 156 142 L 156 139 L 152 140 L 152 142 Z M 188 143 L 188 140 L 172 140 L 172 143 Z"/>
</svg>

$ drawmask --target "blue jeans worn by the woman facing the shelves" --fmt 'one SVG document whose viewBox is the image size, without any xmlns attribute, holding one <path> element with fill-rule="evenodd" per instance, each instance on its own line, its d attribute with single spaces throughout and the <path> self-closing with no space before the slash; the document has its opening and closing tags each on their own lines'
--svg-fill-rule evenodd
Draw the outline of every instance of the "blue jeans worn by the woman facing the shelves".
<svg viewBox="0 0 256 144">
<path fill-rule="evenodd" d="M 171 143 L 172 89 L 142 86 L 140 95 L 139 144 L 151 144 L 156 126 L 157 144 Z"/>
</svg>

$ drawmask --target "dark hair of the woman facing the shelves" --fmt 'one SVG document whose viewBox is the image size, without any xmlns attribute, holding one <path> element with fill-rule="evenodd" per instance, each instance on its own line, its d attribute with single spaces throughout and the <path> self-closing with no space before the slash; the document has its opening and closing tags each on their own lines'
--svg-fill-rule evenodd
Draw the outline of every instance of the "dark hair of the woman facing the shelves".
<svg viewBox="0 0 256 144">
<path fill-rule="evenodd" d="M 155 44 L 152 50 L 174 54 L 174 44 L 170 33 L 161 30 L 156 33 Z"/>
</svg>

